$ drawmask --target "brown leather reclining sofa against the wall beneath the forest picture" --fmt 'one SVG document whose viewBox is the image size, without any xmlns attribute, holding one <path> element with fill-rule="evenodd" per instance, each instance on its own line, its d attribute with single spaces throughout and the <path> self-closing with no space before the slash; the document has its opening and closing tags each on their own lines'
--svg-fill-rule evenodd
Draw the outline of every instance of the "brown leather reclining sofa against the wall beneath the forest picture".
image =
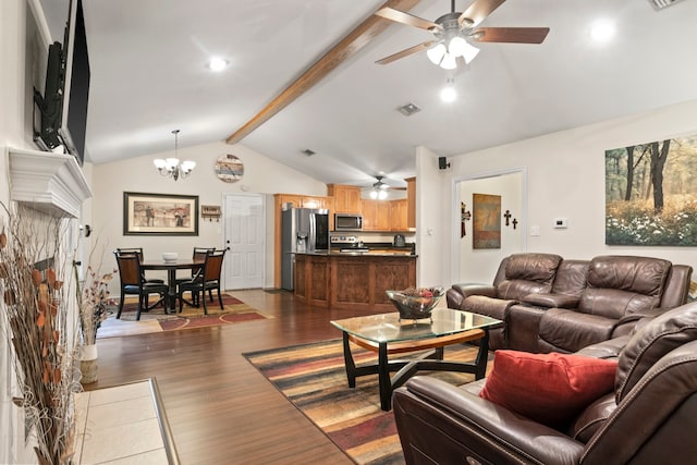
<svg viewBox="0 0 697 465">
<path fill-rule="evenodd" d="M 491 330 L 490 348 L 574 353 L 687 302 L 692 271 L 651 257 L 514 254 L 501 261 L 491 285 L 453 284 L 447 301 L 450 308 L 504 321 Z"/>
</svg>

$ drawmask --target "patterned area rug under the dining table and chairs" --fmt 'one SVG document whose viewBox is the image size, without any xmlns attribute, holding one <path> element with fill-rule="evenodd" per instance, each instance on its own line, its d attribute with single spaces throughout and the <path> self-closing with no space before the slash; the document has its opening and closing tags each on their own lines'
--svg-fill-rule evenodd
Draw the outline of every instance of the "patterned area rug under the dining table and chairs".
<svg viewBox="0 0 697 465">
<path fill-rule="evenodd" d="M 221 310 L 218 297 L 213 293 L 213 302 L 207 303 L 208 315 L 204 315 L 203 306 L 196 308 L 184 305 L 181 314 L 166 314 L 162 307 L 156 307 L 149 311 L 142 311 L 140 320 L 136 321 L 138 304 L 137 301 L 129 298 L 123 306 L 120 319 L 117 319 L 119 308 L 117 306 L 110 308 L 110 316 L 97 331 L 97 339 L 234 325 L 272 318 L 229 294 L 223 294 L 222 303 L 224 308 Z"/>
</svg>

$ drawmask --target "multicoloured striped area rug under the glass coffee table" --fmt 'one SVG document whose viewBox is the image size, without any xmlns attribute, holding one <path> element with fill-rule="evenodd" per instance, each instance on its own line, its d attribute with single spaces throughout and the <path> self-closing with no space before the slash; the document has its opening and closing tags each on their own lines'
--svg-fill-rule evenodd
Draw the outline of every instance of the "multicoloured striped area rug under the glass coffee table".
<svg viewBox="0 0 697 465">
<path fill-rule="evenodd" d="M 445 347 L 445 358 L 474 360 L 478 347 Z M 356 363 L 377 354 L 352 346 Z M 243 354 L 288 400 L 358 464 L 404 464 L 392 412 L 380 409 L 377 375 L 356 379 L 348 388 L 341 340 L 322 341 Z M 424 375 L 427 372 L 419 372 Z M 474 375 L 428 372 L 453 384 Z"/>
</svg>

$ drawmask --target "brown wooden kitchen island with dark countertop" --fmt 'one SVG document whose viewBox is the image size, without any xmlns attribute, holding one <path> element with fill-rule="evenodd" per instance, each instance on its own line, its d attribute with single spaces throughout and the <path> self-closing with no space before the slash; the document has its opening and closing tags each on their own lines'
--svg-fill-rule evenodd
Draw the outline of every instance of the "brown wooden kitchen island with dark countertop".
<svg viewBox="0 0 697 465">
<path fill-rule="evenodd" d="M 295 297 L 327 308 L 395 310 L 384 291 L 416 286 L 416 255 L 295 254 Z"/>
</svg>

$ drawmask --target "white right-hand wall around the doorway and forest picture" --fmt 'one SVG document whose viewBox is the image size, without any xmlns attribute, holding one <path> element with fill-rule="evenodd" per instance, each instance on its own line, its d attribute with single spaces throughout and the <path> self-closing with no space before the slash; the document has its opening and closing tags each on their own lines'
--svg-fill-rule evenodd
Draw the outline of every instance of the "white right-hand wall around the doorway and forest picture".
<svg viewBox="0 0 697 465">
<path fill-rule="evenodd" d="M 451 169 L 440 173 L 432 168 L 438 163 L 437 157 L 427 150 L 417 150 L 417 192 L 423 196 L 418 206 L 421 209 L 438 207 L 440 221 L 452 222 L 449 210 L 453 203 L 454 179 L 525 167 L 527 250 L 582 259 L 607 254 L 643 255 L 697 267 L 695 247 L 604 244 L 604 150 L 695 133 L 697 100 L 451 157 Z M 419 161 L 424 152 L 428 152 L 428 160 Z M 450 184 L 449 188 L 439 187 L 443 184 Z M 431 219 L 427 221 L 417 215 L 419 231 L 433 221 L 436 213 L 429 211 L 428 215 Z M 552 221 L 557 217 L 568 218 L 568 228 L 554 229 Z M 534 225 L 540 228 L 539 236 L 529 235 L 529 228 Z M 419 257 L 419 270 L 421 276 L 429 277 L 429 282 L 439 280 L 448 285 L 460 281 L 460 277 L 453 277 L 451 272 L 451 260 L 458 255 L 453 250 L 451 232 L 438 231 L 443 250 Z M 470 269 L 467 273 L 478 282 L 493 279 L 489 270 Z"/>
</svg>

